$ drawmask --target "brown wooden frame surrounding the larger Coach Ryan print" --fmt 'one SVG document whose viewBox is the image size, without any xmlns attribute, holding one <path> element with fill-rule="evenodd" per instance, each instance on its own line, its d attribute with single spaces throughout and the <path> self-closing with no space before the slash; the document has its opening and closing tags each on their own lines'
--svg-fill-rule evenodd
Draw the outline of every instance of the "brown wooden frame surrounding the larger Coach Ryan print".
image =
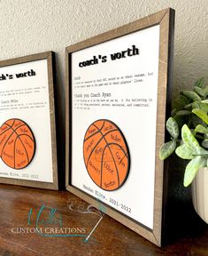
<svg viewBox="0 0 208 256">
<path fill-rule="evenodd" d="M 158 90 L 158 109 L 160 115 L 157 114 L 157 132 L 161 131 L 157 136 L 156 142 L 156 177 L 155 177 L 155 196 L 154 196 L 154 224 L 152 232 L 147 228 L 143 228 L 141 225 L 136 224 L 135 221 L 129 220 L 127 217 L 121 215 L 120 213 L 113 210 L 111 207 L 105 207 L 107 209 L 107 214 L 110 215 L 113 219 L 118 220 L 120 223 L 124 224 L 128 228 L 131 228 L 139 235 L 147 238 L 153 244 L 158 246 L 162 245 L 162 228 L 164 227 L 164 218 L 165 214 L 164 208 L 166 208 L 166 191 L 163 188 L 166 188 L 166 175 L 164 175 L 164 163 L 158 160 L 158 150 L 160 145 L 164 142 L 164 132 L 165 132 L 165 123 L 166 115 L 168 109 L 166 106 L 169 106 L 170 103 L 170 87 L 172 82 L 172 68 L 173 63 L 173 21 L 174 21 L 174 10 L 171 8 L 162 10 L 160 12 L 151 14 L 148 17 L 145 17 L 141 20 L 135 20 L 125 26 L 120 28 L 112 29 L 108 32 L 105 32 L 98 36 L 93 36 L 81 43 L 73 44 L 65 48 L 65 186 L 68 191 L 73 193 L 75 196 L 81 197 L 89 204 L 96 204 L 96 200 L 92 199 L 90 196 L 86 196 L 85 193 L 81 192 L 77 188 L 71 186 L 70 178 L 70 166 L 71 166 L 71 152 L 72 148 L 69 143 L 72 139 L 72 129 L 70 124 L 72 124 L 72 101 L 71 101 L 71 81 L 70 81 L 70 60 L 71 52 L 80 51 L 84 48 L 90 47 L 95 44 L 101 44 L 113 38 L 119 36 L 125 36 L 129 33 L 135 31 L 149 28 L 154 25 L 160 25 L 160 43 L 159 43 L 159 70 L 158 70 L 158 84 L 162 92 Z M 163 40 L 162 40 L 163 39 Z M 166 49 L 165 49 L 166 48 Z M 161 51 L 163 50 L 163 51 Z M 173 61 L 172 61 L 173 62 Z M 172 66 L 172 68 L 169 68 Z M 169 92 L 166 92 L 166 88 L 169 88 Z M 165 90 L 164 90 L 165 89 Z M 160 97 L 160 93 L 162 94 Z M 167 93 L 167 95 L 166 95 Z M 161 101 L 162 100 L 162 101 Z M 161 104 L 165 102 L 165 104 Z M 67 112 L 69 109 L 69 112 Z M 158 172 L 157 172 L 158 170 Z M 163 187 L 165 186 L 165 187 Z"/>
</svg>

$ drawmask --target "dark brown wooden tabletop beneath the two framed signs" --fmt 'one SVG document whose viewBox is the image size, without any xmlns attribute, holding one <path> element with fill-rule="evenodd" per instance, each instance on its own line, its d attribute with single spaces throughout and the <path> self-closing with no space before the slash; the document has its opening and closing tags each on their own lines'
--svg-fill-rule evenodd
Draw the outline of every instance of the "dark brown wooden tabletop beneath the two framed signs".
<svg viewBox="0 0 208 256">
<path fill-rule="evenodd" d="M 198 232 L 158 248 L 104 215 L 84 242 L 101 218 L 88 206 L 67 191 L 0 185 L 0 255 L 208 255 L 208 228 L 204 224 Z M 44 234 L 33 233 L 35 227 L 42 228 Z M 81 236 L 62 236 L 65 234 Z"/>
</svg>

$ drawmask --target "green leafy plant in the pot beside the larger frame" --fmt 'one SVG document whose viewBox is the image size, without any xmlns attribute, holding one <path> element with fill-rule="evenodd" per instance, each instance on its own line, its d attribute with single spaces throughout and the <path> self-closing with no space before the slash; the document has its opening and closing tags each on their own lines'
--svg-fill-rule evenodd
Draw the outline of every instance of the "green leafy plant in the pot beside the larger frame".
<svg viewBox="0 0 208 256">
<path fill-rule="evenodd" d="M 166 121 L 166 130 L 171 140 L 159 151 L 165 160 L 174 151 L 182 159 L 189 160 L 183 185 L 188 187 L 199 168 L 208 167 L 208 85 L 204 77 L 194 84 L 193 91 L 180 92 L 176 108 Z"/>
</svg>

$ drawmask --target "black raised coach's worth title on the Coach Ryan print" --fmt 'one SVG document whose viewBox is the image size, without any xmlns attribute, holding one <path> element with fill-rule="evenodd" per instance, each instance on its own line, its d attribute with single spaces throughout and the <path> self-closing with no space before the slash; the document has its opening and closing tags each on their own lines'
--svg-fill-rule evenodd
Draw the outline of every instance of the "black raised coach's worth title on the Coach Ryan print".
<svg viewBox="0 0 208 256">
<path fill-rule="evenodd" d="M 110 58 L 111 60 L 120 60 L 120 59 L 124 59 L 127 57 L 132 57 L 135 55 L 139 55 L 139 49 L 137 47 L 135 47 L 135 45 L 133 44 L 130 48 L 127 48 L 127 50 L 125 51 L 121 51 L 121 52 L 114 52 L 110 54 Z M 108 56 L 104 55 L 98 55 L 98 56 L 93 56 L 92 59 L 90 60 L 84 60 L 79 62 L 79 67 L 80 68 L 84 68 L 84 67 L 88 67 L 91 65 L 96 65 L 99 63 L 105 63 L 108 60 Z"/>
</svg>

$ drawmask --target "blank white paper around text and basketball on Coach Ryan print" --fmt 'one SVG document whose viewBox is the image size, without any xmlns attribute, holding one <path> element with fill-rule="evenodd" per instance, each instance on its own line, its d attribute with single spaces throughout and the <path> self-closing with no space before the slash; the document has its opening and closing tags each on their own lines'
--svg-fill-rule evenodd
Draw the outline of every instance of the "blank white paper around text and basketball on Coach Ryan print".
<svg viewBox="0 0 208 256">
<path fill-rule="evenodd" d="M 131 48 L 135 44 L 140 54 L 120 60 L 110 60 L 110 54 Z M 158 92 L 158 47 L 159 26 L 143 29 L 127 36 L 121 36 L 104 44 L 97 44 L 72 54 L 72 76 L 81 76 L 81 80 L 91 80 L 112 76 L 135 75 L 153 72 L 146 76 L 143 83 L 113 85 L 90 88 L 74 88 L 74 93 L 111 92 L 112 98 L 152 98 L 150 108 L 108 108 L 97 107 L 90 110 L 73 109 L 73 165 L 72 184 L 97 197 L 83 188 L 89 186 L 102 193 L 108 200 L 104 201 L 119 212 L 153 228 L 153 202 L 155 179 L 155 143 Z M 79 62 L 90 60 L 94 55 L 107 55 L 106 63 L 79 68 Z M 72 79 L 73 80 L 73 79 Z M 74 103 L 74 98 L 73 98 Z M 130 172 L 125 184 L 118 190 L 108 192 L 96 186 L 85 168 L 82 155 L 83 139 L 89 124 L 97 119 L 109 119 L 117 124 L 123 132 L 130 153 Z M 109 198 L 131 208 L 131 213 L 113 206 Z"/>
</svg>

